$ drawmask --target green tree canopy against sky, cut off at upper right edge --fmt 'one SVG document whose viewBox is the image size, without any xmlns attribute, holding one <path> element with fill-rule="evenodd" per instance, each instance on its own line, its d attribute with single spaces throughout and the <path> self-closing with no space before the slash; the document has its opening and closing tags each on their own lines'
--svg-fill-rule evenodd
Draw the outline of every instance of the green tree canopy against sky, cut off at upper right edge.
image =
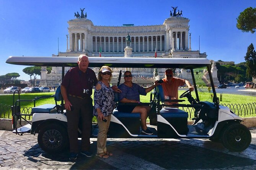
<svg viewBox="0 0 256 170">
<path fill-rule="evenodd" d="M 236 18 L 236 27 L 242 32 L 251 32 L 252 34 L 256 30 L 256 8 L 246 8 Z"/>
</svg>

